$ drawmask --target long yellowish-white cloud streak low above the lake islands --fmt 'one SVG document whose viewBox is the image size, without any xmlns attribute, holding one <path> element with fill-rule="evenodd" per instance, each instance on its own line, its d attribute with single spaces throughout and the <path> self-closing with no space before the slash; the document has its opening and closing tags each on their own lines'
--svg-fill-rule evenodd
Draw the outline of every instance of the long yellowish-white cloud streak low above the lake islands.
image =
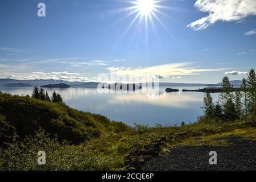
<svg viewBox="0 0 256 182">
<path fill-rule="evenodd" d="M 152 75 L 161 76 L 183 76 L 183 75 L 198 75 L 201 72 L 215 72 L 222 71 L 223 68 L 218 69 L 203 69 L 193 68 L 191 63 L 174 63 L 155 65 L 145 68 L 125 68 L 125 67 L 109 67 L 111 74 L 117 76 L 130 76 L 130 77 L 149 77 Z"/>
</svg>

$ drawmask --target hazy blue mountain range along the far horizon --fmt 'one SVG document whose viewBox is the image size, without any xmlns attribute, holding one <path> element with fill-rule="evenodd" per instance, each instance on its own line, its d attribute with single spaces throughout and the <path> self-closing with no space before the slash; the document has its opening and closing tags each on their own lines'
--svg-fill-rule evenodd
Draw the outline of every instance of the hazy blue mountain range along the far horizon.
<svg viewBox="0 0 256 182">
<path fill-rule="evenodd" d="M 231 80 L 231 84 L 234 86 L 241 85 L 241 80 Z M 97 88 L 99 82 L 71 82 L 64 80 L 14 80 L 10 78 L 0 79 L 0 86 L 4 86 L 7 84 L 13 84 L 15 87 L 24 87 L 24 86 L 44 86 L 44 85 L 56 85 L 56 84 L 66 84 L 72 87 L 77 88 Z M 25 85 L 23 85 L 25 84 Z M 106 84 L 106 83 L 105 83 Z M 187 83 L 169 83 L 169 82 L 160 82 L 159 86 L 220 86 L 222 82 L 217 84 L 187 84 Z M 146 86 L 146 84 L 137 83 L 140 86 Z"/>
</svg>

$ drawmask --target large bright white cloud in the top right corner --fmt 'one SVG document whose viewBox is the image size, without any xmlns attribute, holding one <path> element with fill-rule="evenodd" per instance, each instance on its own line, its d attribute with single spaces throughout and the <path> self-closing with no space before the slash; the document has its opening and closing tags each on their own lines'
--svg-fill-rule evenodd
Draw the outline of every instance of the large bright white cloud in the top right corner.
<svg viewBox="0 0 256 182">
<path fill-rule="evenodd" d="M 239 22 L 247 16 L 256 15 L 255 0 L 197 0 L 194 6 L 209 15 L 187 25 L 193 30 L 203 30 L 218 21 Z"/>
</svg>

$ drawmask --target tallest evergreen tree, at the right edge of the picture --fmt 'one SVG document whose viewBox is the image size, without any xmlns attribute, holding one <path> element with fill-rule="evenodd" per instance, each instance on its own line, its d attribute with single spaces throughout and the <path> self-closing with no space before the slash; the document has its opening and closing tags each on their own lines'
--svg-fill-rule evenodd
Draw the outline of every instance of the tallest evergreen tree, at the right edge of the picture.
<svg viewBox="0 0 256 182">
<path fill-rule="evenodd" d="M 251 69 L 247 78 L 248 98 L 249 98 L 249 112 L 251 119 L 256 119 L 256 74 L 254 69 Z"/>
</svg>

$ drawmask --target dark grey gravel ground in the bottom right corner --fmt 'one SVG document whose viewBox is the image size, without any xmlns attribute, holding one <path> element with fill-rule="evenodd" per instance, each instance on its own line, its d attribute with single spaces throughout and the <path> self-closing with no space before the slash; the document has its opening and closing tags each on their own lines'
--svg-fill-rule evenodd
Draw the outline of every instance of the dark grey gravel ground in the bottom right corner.
<svg viewBox="0 0 256 182">
<path fill-rule="evenodd" d="M 231 145 L 220 146 L 180 146 L 171 148 L 170 154 L 153 158 L 146 162 L 142 170 L 256 170 L 256 142 L 239 137 L 224 137 Z M 216 151 L 218 164 L 210 165 L 210 151 Z"/>
</svg>

